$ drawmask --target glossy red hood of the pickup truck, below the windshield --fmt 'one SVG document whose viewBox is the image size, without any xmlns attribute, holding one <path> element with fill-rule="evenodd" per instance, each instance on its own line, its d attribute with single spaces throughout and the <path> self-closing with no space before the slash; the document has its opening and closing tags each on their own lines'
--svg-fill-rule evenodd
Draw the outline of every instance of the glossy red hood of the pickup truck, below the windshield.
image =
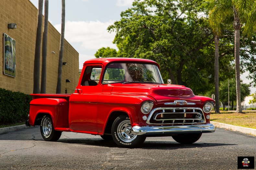
<svg viewBox="0 0 256 170">
<path fill-rule="evenodd" d="M 186 100 L 196 105 L 202 105 L 203 96 L 195 96 L 190 88 L 183 85 L 159 85 L 159 84 L 115 84 L 111 88 L 111 93 L 119 94 L 141 94 L 153 97 L 157 105 L 164 106 L 164 103 L 174 102 L 175 100 Z M 205 100 L 205 97 L 203 97 Z M 211 100 L 211 98 L 206 97 Z"/>
</svg>

